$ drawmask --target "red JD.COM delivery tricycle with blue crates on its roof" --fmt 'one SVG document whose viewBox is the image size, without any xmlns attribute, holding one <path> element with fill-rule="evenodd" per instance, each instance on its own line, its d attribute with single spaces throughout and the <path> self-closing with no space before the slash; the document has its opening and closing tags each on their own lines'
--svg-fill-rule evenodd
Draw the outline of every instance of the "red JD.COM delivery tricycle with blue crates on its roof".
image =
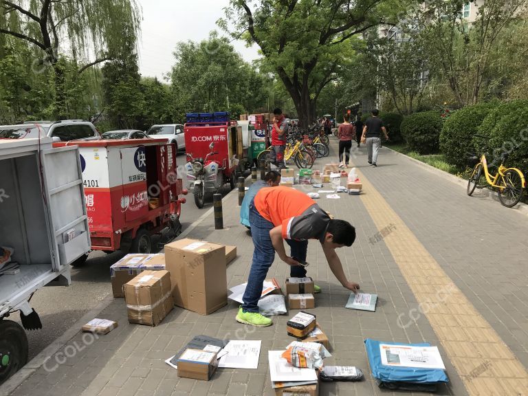
<svg viewBox="0 0 528 396">
<path fill-rule="evenodd" d="M 242 129 L 236 121 L 201 118 L 184 126 L 187 180 L 198 208 L 205 197 L 219 192 L 224 184 L 233 189 L 236 179 L 249 168 L 244 155 Z"/>
</svg>

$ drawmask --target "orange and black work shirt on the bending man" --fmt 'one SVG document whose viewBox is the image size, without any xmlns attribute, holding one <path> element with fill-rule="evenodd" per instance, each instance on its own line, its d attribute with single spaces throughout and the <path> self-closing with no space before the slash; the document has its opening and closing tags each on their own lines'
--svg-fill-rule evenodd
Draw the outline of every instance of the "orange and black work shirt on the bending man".
<svg viewBox="0 0 528 396">
<path fill-rule="evenodd" d="M 325 241 L 330 217 L 305 193 L 283 186 L 262 188 L 254 205 L 264 219 L 283 226 L 283 239 Z"/>
</svg>

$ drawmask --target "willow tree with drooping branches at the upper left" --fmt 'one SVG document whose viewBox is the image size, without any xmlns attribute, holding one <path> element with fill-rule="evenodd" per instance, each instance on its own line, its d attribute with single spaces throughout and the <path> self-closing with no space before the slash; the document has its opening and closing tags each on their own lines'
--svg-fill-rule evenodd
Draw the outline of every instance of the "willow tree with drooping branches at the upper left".
<svg viewBox="0 0 528 396">
<path fill-rule="evenodd" d="M 0 0 L 0 34 L 30 43 L 40 52 L 36 73 L 52 67 L 57 118 L 67 113 L 64 63 L 59 50 L 68 47 L 78 73 L 112 59 L 123 47 L 122 38 L 136 37 L 140 10 L 135 0 Z M 94 61 L 87 61 L 93 50 Z"/>
</svg>

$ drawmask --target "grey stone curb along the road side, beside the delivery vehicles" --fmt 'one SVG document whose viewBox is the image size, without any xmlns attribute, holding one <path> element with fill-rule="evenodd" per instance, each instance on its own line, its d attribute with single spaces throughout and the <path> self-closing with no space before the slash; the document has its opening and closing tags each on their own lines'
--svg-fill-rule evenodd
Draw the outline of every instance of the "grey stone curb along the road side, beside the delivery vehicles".
<svg viewBox="0 0 528 396">
<path fill-rule="evenodd" d="M 251 176 L 248 176 L 251 177 Z M 248 177 L 246 177 L 246 181 L 248 180 Z M 223 199 L 226 199 L 230 194 L 232 193 L 238 193 L 239 190 L 237 188 L 234 188 L 228 194 L 223 197 Z M 222 200 L 223 200 L 222 199 Z M 184 232 L 181 232 L 177 236 L 177 238 L 185 238 L 192 230 L 197 228 L 197 226 L 205 220 L 212 212 L 214 211 L 214 207 L 208 209 L 206 212 L 204 212 L 198 219 L 193 221 L 188 228 Z M 174 241 L 174 239 L 172 240 Z M 162 250 L 163 252 L 164 250 Z M 72 340 L 76 336 L 76 334 L 80 331 L 80 328 L 83 327 L 83 325 L 86 325 L 87 322 L 90 320 L 97 318 L 99 314 L 112 303 L 114 300 L 112 294 L 109 294 L 107 297 L 105 297 L 94 309 L 91 309 L 87 314 L 85 314 L 82 318 L 80 318 L 72 327 L 67 329 L 63 333 L 63 335 L 56 340 L 54 340 L 50 345 L 48 345 L 45 349 L 43 349 L 38 355 L 36 355 L 28 364 L 23 366 L 22 369 L 17 371 L 12 377 L 10 377 L 9 380 L 5 381 L 0 386 L 0 396 L 9 396 L 15 389 L 17 389 L 25 380 L 30 377 L 33 373 L 35 373 L 37 370 L 39 370 L 48 360 L 52 358 L 52 356 L 62 347 L 65 346 L 69 342 L 69 340 Z"/>
</svg>

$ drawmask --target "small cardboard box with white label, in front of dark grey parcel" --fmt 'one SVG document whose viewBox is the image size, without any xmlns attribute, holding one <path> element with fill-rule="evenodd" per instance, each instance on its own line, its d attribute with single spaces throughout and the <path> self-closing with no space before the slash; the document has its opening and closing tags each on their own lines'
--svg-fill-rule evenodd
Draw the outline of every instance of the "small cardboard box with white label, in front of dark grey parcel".
<svg viewBox="0 0 528 396">
<path fill-rule="evenodd" d="M 186 349 L 178 359 L 178 377 L 208 381 L 218 368 L 217 353 Z"/>
</svg>

